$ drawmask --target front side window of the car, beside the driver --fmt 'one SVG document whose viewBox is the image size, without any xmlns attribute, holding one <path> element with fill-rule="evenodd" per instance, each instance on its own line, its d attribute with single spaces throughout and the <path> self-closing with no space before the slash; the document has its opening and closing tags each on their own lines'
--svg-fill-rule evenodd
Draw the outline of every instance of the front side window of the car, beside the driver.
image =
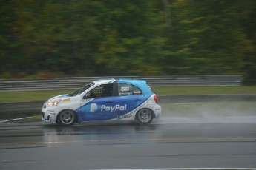
<svg viewBox="0 0 256 170">
<path fill-rule="evenodd" d="M 100 98 L 112 96 L 113 84 L 102 84 L 91 89 L 90 92 L 86 93 L 84 98 Z"/>
</svg>

